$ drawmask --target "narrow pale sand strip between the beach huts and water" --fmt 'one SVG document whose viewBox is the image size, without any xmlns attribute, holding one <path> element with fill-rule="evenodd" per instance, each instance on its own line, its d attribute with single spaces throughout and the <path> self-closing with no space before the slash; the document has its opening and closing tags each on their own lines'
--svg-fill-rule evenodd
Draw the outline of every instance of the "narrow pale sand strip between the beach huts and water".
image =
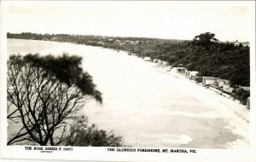
<svg viewBox="0 0 256 162">
<path fill-rule="evenodd" d="M 162 72 L 163 74 L 169 75 L 172 78 L 179 79 L 179 82 L 189 84 L 191 87 L 195 87 L 195 89 L 201 90 L 201 95 L 208 95 L 213 100 L 219 101 L 222 105 L 224 105 L 223 113 L 227 118 L 233 118 L 232 116 L 235 114 L 237 119 L 234 119 L 230 122 L 232 125 L 237 125 L 236 129 L 233 131 L 242 136 L 247 136 L 249 132 L 249 123 L 250 123 L 250 110 L 247 109 L 246 105 L 242 105 L 240 101 L 235 100 L 233 97 L 222 95 L 213 89 L 209 89 L 202 84 L 197 84 L 193 80 L 189 80 L 185 75 L 177 73 L 174 69 L 170 70 L 170 67 L 162 67 L 158 66 L 157 63 L 143 61 L 142 58 L 138 58 L 144 64 L 148 64 L 149 67 L 154 67 L 157 72 Z M 233 113 L 233 114 L 232 114 Z M 239 126 L 238 126 L 239 125 Z M 248 142 L 248 137 L 247 140 Z M 230 143 L 228 148 L 247 148 L 247 144 L 241 142 L 240 140 L 236 140 L 236 142 Z"/>
</svg>

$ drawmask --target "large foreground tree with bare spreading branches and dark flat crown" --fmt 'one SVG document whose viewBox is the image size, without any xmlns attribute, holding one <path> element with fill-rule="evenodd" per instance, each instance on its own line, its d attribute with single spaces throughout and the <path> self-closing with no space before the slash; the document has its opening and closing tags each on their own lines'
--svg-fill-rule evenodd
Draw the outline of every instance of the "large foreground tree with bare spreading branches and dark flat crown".
<svg viewBox="0 0 256 162">
<path fill-rule="evenodd" d="M 8 61 L 8 116 L 21 123 L 8 145 L 29 141 L 59 145 L 67 136 L 67 120 L 73 119 L 84 101 L 102 103 L 92 78 L 80 67 L 82 58 L 61 55 L 11 55 Z"/>
</svg>

